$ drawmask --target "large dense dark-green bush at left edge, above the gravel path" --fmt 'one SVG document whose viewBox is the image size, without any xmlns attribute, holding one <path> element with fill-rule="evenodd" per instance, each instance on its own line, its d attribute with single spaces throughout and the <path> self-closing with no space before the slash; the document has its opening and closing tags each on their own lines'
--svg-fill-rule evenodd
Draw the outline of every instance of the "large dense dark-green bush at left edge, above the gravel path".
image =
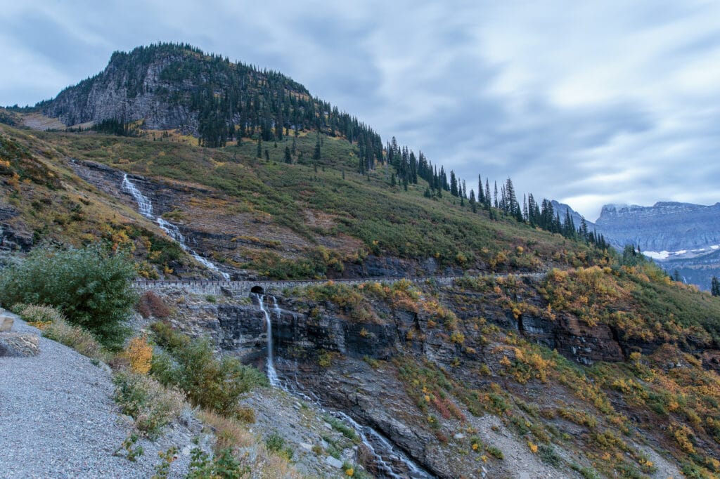
<svg viewBox="0 0 720 479">
<path fill-rule="evenodd" d="M 113 255 L 96 245 L 38 248 L 23 263 L 3 271 L 0 304 L 55 306 L 68 321 L 117 349 L 127 336 L 122 322 L 137 301 L 133 278 L 135 268 L 126 255 Z"/>
</svg>

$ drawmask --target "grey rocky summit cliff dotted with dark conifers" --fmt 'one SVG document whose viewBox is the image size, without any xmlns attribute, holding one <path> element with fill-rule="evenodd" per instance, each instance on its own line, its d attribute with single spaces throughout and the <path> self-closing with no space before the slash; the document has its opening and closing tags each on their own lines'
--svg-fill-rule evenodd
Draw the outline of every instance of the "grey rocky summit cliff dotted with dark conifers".
<svg viewBox="0 0 720 479">
<path fill-rule="evenodd" d="M 294 103 L 289 96 L 282 99 L 290 94 L 296 96 Z M 37 106 L 68 126 L 142 120 L 148 129 L 180 129 L 210 140 L 211 131 L 221 130 L 232 138 L 232 125 L 243 132 L 246 125 L 262 128 L 267 136 L 274 122 L 290 119 L 300 97 L 310 101 L 305 87 L 279 73 L 231 63 L 189 45 L 158 44 L 113 53 L 101 73 Z"/>
</svg>

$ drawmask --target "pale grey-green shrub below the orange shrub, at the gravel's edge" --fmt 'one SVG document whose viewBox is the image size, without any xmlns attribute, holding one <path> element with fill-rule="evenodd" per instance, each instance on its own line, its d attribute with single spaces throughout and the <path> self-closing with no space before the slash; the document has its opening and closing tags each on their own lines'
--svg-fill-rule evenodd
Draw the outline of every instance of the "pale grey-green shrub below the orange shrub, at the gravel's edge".
<svg viewBox="0 0 720 479">
<path fill-rule="evenodd" d="M 162 427 L 178 416 L 184 405 L 184 395 L 176 389 L 164 388 L 161 383 L 145 375 L 117 373 L 115 401 L 123 414 L 135 419 L 138 431 L 157 437 Z"/>
</svg>

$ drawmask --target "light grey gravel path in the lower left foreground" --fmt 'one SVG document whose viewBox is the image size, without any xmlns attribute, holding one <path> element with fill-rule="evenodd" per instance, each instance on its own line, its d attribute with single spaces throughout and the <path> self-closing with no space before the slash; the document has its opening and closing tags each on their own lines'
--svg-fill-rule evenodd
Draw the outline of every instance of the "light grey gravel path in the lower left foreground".
<svg viewBox="0 0 720 479">
<path fill-rule="evenodd" d="M 15 332 L 38 329 L 15 319 Z M 112 399 L 108 368 L 40 337 L 36 357 L 0 357 L 0 478 L 149 478 L 158 451 L 181 451 L 171 470 L 179 477 L 189 463 L 199 424 L 173 424 L 156 442 L 142 439 L 138 462 L 114 456 L 130 433 Z"/>
</svg>

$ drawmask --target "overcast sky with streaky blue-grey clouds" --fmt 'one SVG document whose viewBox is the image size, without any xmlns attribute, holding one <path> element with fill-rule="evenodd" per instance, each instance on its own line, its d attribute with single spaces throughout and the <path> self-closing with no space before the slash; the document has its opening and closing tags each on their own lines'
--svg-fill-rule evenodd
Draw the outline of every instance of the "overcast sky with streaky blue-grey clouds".
<svg viewBox="0 0 720 479">
<path fill-rule="evenodd" d="M 720 201 L 720 2 L 0 0 L 0 105 L 158 40 L 279 70 L 468 189 L 510 175 L 593 221 Z"/>
</svg>

